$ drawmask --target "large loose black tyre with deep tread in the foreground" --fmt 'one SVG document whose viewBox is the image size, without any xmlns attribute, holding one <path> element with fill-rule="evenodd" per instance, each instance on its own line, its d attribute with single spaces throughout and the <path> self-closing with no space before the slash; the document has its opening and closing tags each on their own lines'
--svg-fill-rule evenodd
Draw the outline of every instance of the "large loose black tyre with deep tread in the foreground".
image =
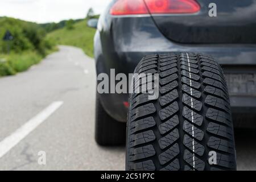
<svg viewBox="0 0 256 182">
<path fill-rule="evenodd" d="M 228 89 L 212 57 L 146 56 L 135 73 L 159 73 L 159 97 L 130 94 L 127 170 L 236 170 Z"/>
</svg>

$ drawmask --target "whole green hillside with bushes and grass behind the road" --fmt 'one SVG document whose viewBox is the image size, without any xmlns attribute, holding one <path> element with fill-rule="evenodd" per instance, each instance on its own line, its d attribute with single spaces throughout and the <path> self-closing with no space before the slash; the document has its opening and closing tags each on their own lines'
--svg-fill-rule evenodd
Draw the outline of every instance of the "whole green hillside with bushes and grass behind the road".
<svg viewBox="0 0 256 182">
<path fill-rule="evenodd" d="M 60 28 L 64 26 L 63 23 L 65 27 Z M 56 51 L 57 44 L 80 47 L 86 55 L 93 57 L 93 36 L 96 30 L 87 27 L 85 19 L 57 23 L 59 29 L 48 34 L 50 29 L 47 27 L 52 23 L 42 25 L 0 17 L 0 24 L 0 77 L 15 75 L 40 63 L 43 57 Z M 9 42 L 2 40 L 7 30 L 13 36 Z"/>
</svg>

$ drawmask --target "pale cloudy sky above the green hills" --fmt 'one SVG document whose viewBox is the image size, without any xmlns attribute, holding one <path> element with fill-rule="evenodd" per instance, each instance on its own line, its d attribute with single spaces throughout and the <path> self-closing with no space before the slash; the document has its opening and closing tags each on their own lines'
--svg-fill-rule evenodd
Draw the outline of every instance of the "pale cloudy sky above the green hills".
<svg viewBox="0 0 256 182">
<path fill-rule="evenodd" d="M 0 16 L 36 23 L 85 18 L 90 7 L 100 14 L 111 0 L 0 0 Z"/>
</svg>

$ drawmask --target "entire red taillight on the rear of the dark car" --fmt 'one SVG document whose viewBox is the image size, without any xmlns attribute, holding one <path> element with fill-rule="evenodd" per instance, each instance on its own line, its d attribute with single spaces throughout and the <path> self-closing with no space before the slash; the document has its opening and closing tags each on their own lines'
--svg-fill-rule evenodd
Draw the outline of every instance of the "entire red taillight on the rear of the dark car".
<svg viewBox="0 0 256 182">
<path fill-rule="evenodd" d="M 168 13 L 196 13 L 200 5 L 195 0 L 118 0 L 110 14 L 168 14 Z"/>
</svg>

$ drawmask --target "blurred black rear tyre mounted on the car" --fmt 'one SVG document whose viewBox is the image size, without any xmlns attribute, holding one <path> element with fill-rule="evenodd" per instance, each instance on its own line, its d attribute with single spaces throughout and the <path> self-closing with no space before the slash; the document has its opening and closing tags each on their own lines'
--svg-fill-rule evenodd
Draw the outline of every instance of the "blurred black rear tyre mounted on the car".
<svg viewBox="0 0 256 182">
<path fill-rule="evenodd" d="M 96 96 L 95 138 L 101 146 L 115 146 L 125 144 L 126 123 L 115 121 L 101 105 Z"/>
</svg>

